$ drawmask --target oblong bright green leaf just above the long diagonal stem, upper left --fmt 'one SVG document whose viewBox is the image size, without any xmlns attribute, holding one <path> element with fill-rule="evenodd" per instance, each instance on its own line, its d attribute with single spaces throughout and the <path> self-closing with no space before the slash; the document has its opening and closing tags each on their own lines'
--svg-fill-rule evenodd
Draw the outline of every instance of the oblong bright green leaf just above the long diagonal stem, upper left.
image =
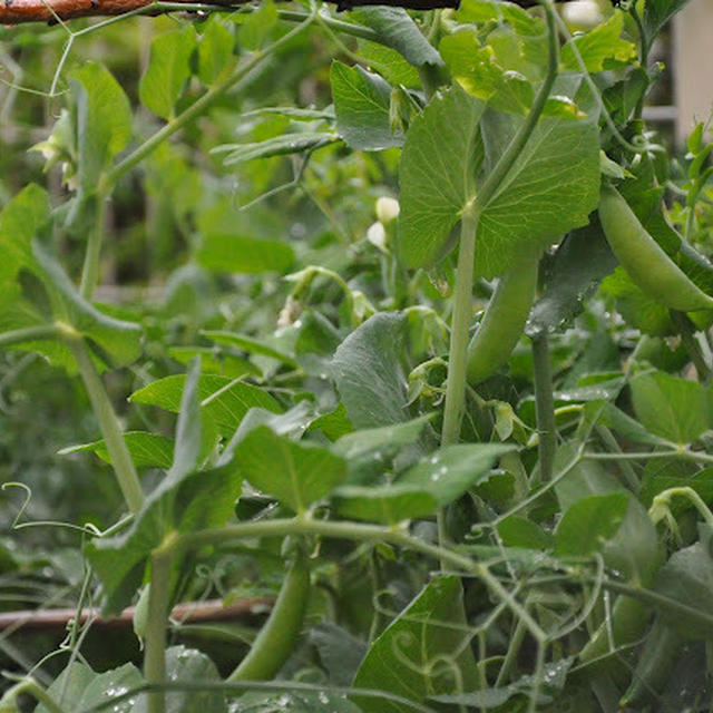
<svg viewBox="0 0 713 713">
<path fill-rule="evenodd" d="M 138 91 L 144 106 L 164 119 L 174 116 L 176 101 L 191 77 L 191 56 L 195 48 L 193 25 L 159 35 L 152 41 L 150 59 Z"/>
</svg>

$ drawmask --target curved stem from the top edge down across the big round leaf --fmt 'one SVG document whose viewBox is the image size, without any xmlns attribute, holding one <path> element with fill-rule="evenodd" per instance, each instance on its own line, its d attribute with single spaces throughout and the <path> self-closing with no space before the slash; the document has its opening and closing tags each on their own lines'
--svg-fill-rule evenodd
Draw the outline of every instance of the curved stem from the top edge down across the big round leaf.
<svg viewBox="0 0 713 713">
<path fill-rule="evenodd" d="M 500 187 L 502 179 L 510 170 L 510 168 L 512 168 L 512 164 L 515 164 L 515 162 L 517 160 L 517 157 L 520 155 L 522 148 L 525 148 L 525 145 L 527 144 L 533 130 L 535 129 L 535 126 L 537 125 L 537 121 L 539 120 L 540 115 L 543 114 L 545 104 L 549 98 L 549 92 L 551 91 L 555 79 L 557 78 L 557 66 L 559 64 L 559 42 L 557 39 L 557 31 L 555 29 L 555 10 L 553 9 L 553 3 L 550 0 L 544 2 L 543 7 L 545 8 L 545 17 L 547 19 L 547 75 L 545 76 L 543 84 L 537 90 L 537 95 L 535 96 L 533 106 L 525 117 L 525 121 L 515 133 L 507 148 L 500 156 L 498 163 L 495 165 L 485 183 L 480 187 L 473 205 L 477 211 L 480 211 L 486 205 L 488 205 L 490 198 L 492 198 L 496 191 Z"/>
</svg>

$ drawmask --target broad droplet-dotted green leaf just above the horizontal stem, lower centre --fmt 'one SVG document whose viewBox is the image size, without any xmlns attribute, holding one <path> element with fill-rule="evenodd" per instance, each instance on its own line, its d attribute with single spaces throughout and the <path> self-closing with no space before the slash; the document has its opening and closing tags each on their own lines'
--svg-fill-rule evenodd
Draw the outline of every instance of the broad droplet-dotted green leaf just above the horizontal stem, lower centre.
<svg viewBox="0 0 713 713">
<path fill-rule="evenodd" d="M 295 512 L 326 497 L 346 476 L 346 463 L 315 443 L 297 443 L 266 426 L 253 429 L 235 449 L 235 462 L 255 488 Z"/>
</svg>

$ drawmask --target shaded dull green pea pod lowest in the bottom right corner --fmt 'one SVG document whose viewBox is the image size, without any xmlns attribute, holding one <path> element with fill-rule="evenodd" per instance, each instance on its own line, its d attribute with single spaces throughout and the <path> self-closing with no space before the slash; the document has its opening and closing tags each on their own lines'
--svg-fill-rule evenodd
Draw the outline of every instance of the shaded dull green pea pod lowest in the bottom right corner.
<svg viewBox="0 0 713 713">
<path fill-rule="evenodd" d="M 622 696 L 622 707 L 648 703 L 663 688 L 673 662 L 681 654 L 683 638 L 656 617 L 636 664 L 632 685 Z"/>
</svg>

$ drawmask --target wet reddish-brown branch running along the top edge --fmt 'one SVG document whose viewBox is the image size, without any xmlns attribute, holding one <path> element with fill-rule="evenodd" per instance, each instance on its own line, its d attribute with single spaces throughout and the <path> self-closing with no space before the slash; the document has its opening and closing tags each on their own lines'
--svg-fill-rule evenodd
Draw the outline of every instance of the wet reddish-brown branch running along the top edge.
<svg viewBox="0 0 713 713">
<path fill-rule="evenodd" d="M 351 10 L 362 6 L 389 6 L 411 10 L 434 10 L 437 8 L 457 8 L 460 0 L 334 0 L 338 10 Z M 174 0 L 175 3 L 192 0 Z M 246 4 L 250 0 L 231 2 L 208 2 L 207 4 L 225 6 L 234 9 Z M 126 14 L 155 4 L 154 0 L 0 0 L 0 25 L 19 25 L 21 22 L 56 22 L 75 18 Z M 51 8 L 51 9 L 50 9 Z M 156 6 L 155 13 L 162 10 Z M 150 10 L 149 10 L 150 12 Z"/>
</svg>

